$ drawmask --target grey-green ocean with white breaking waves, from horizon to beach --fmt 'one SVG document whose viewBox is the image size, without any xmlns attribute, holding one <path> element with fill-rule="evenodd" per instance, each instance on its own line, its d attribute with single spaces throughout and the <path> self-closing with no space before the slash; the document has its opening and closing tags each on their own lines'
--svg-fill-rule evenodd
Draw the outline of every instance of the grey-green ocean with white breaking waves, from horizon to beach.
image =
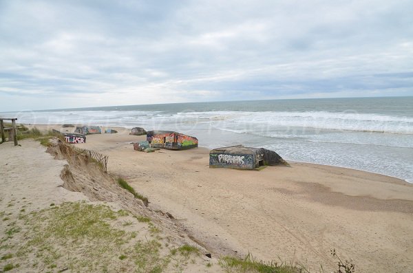
<svg viewBox="0 0 413 273">
<path fill-rule="evenodd" d="M 193 102 L 22 111 L 27 124 L 180 131 L 209 149 L 244 144 L 286 160 L 354 168 L 413 183 L 413 97 Z"/>
</svg>

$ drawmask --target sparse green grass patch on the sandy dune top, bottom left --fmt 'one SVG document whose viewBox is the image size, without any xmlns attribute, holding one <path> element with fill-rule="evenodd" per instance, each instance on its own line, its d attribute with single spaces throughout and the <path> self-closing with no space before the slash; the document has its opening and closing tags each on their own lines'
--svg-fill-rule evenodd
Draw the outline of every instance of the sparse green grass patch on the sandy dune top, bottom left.
<svg viewBox="0 0 413 273">
<path fill-rule="evenodd" d="M 58 272 L 61 268 L 71 272 L 121 272 L 125 268 L 164 272 L 170 261 L 160 251 L 165 245 L 158 239 L 141 240 L 136 232 L 115 228 L 115 223 L 129 221 L 124 217 L 109 206 L 85 202 L 30 212 L 21 227 L 10 230 L 10 235 L 19 235 L 24 243 L 10 245 L 8 254 L 0 256 L 0 272 L 14 270 L 22 263 L 34 272 Z M 28 261 L 33 256 L 36 259 Z"/>
</svg>

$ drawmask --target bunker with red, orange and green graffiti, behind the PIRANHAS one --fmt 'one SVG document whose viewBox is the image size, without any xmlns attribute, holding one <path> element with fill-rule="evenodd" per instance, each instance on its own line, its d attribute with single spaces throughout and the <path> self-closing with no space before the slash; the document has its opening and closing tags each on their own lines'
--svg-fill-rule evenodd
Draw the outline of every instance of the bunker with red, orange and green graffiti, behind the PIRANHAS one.
<svg viewBox="0 0 413 273">
<path fill-rule="evenodd" d="M 173 131 L 147 131 L 151 148 L 184 150 L 198 147 L 198 138 Z"/>
</svg>

